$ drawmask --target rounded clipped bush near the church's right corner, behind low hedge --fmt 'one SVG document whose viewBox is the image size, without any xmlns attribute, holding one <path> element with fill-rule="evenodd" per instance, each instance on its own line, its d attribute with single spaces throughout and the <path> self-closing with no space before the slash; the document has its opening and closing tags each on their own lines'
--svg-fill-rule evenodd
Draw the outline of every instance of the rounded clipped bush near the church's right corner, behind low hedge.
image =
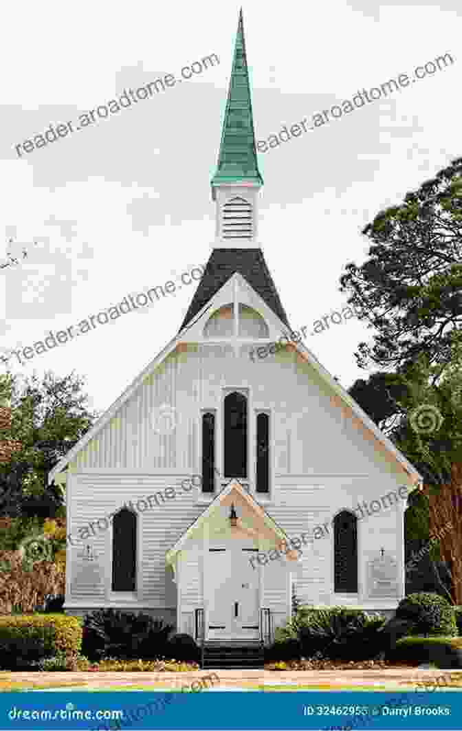
<svg viewBox="0 0 462 731">
<path fill-rule="evenodd" d="M 439 594 L 409 594 L 401 599 L 395 616 L 414 624 L 412 635 L 458 635 L 454 607 Z"/>
</svg>

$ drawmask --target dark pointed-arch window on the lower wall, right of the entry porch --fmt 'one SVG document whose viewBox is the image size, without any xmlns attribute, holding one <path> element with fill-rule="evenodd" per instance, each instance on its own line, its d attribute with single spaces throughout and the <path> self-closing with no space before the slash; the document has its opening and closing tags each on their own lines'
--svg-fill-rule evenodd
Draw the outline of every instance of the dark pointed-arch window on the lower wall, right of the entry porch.
<svg viewBox="0 0 462 731">
<path fill-rule="evenodd" d="M 357 593 L 357 518 L 342 510 L 334 518 L 334 591 Z"/>
</svg>

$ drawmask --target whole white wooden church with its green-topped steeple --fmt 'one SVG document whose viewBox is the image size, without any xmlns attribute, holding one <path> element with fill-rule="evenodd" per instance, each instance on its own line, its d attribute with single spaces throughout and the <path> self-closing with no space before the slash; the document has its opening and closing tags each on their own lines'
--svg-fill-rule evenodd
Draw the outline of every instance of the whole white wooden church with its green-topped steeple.
<svg viewBox="0 0 462 731">
<path fill-rule="evenodd" d="M 205 272 L 178 333 L 50 473 L 68 614 L 142 611 L 261 647 L 294 591 L 385 615 L 404 596 L 422 477 L 303 342 L 251 357 L 291 333 L 257 243 L 262 184 L 241 15 Z"/>
</svg>

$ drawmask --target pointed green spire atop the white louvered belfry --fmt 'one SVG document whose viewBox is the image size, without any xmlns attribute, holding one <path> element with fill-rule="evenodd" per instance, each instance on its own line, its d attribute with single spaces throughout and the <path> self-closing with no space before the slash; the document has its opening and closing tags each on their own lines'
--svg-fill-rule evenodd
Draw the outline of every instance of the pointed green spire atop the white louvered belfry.
<svg viewBox="0 0 462 731">
<path fill-rule="evenodd" d="M 250 99 L 242 9 L 239 13 L 238 34 L 232 61 L 230 90 L 224 113 L 218 165 L 211 180 L 213 200 L 215 200 L 213 186 L 220 183 L 263 185 L 255 149 L 254 118 Z"/>
</svg>

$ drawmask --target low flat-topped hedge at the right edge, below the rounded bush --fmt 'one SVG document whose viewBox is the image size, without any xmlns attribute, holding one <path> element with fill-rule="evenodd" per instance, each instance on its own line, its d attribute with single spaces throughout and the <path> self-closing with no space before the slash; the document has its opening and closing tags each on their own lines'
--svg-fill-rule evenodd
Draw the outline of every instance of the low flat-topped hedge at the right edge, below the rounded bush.
<svg viewBox="0 0 462 731">
<path fill-rule="evenodd" d="M 435 664 L 442 670 L 462 667 L 462 637 L 402 637 L 386 659 L 408 665 Z"/>
</svg>

